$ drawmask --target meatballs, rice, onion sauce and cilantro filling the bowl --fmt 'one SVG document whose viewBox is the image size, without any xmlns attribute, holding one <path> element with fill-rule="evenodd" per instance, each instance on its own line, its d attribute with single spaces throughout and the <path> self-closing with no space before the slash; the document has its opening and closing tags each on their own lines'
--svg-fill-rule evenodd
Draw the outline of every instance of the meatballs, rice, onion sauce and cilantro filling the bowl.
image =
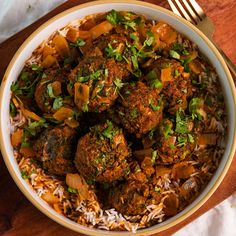
<svg viewBox="0 0 236 236">
<path fill-rule="evenodd" d="M 59 214 L 136 231 L 181 212 L 225 149 L 218 76 L 165 22 L 112 10 L 45 40 L 12 86 L 11 143 Z"/>
</svg>

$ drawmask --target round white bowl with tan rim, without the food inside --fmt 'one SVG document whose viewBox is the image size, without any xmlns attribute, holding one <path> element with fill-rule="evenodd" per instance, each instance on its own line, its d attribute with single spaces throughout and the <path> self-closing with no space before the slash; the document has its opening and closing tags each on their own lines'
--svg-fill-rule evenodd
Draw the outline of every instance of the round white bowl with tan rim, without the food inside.
<svg viewBox="0 0 236 236">
<path fill-rule="evenodd" d="M 149 3 L 139 1 L 124 1 L 124 0 L 109 0 L 96 1 L 87 4 L 82 4 L 73 7 L 67 11 L 60 13 L 53 17 L 41 27 L 39 27 L 30 37 L 23 43 L 19 50 L 11 60 L 7 71 L 4 75 L 1 91 L 0 91 L 0 144 L 1 151 L 4 157 L 7 168 L 25 196 L 34 204 L 41 212 L 56 221 L 57 223 L 80 233 L 88 235 L 130 235 L 130 232 L 110 232 L 98 229 L 91 229 L 79 225 L 64 216 L 55 212 L 46 202 L 36 195 L 28 183 L 22 179 L 17 162 L 13 156 L 13 149 L 10 141 L 10 121 L 9 121 L 9 104 L 11 97 L 10 86 L 15 81 L 21 72 L 25 61 L 31 56 L 33 50 L 45 39 L 47 39 L 54 31 L 67 25 L 69 22 L 82 19 L 87 15 L 106 12 L 112 9 L 128 10 L 144 14 L 147 18 L 158 19 L 167 22 L 174 27 L 178 32 L 187 36 L 191 41 L 195 42 L 199 49 L 207 56 L 211 64 L 216 68 L 219 75 L 221 87 L 223 89 L 226 110 L 228 113 L 228 132 L 226 137 L 226 149 L 221 159 L 218 169 L 216 170 L 211 181 L 201 192 L 201 194 L 187 206 L 183 211 L 169 218 L 168 220 L 154 225 L 149 228 L 141 229 L 136 232 L 136 235 L 150 235 L 166 230 L 175 224 L 183 221 L 192 213 L 194 213 L 200 206 L 202 206 L 207 199 L 216 191 L 217 187 L 223 180 L 227 170 L 230 166 L 236 148 L 236 90 L 234 82 L 229 73 L 229 70 L 214 45 L 210 40 L 200 32 L 195 26 L 186 20 L 176 16 L 172 12 L 152 5 Z"/>
</svg>

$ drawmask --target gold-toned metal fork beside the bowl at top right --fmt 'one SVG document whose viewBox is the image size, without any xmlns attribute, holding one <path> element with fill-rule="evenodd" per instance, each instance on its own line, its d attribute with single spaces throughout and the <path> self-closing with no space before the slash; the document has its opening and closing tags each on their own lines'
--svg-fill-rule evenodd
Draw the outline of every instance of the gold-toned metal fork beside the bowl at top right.
<svg viewBox="0 0 236 236">
<path fill-rule="evenodd" d="M 227 63 L 232 75 L 236 77 L 236 66 L 226 56 L 223 50 L 213 41 L 215 27 L 211 19 L 207 17 L 199 4 L 195 0 L 182 0 L 182 3 L 181 0 L 168 0 L 168 3 L 175 14 L 184 17 L 186 20 L 194 24 L 211 40 L 211 42 L 215 45 L 215 47 L 225 59 L 225 62 Z"/>
</svg>

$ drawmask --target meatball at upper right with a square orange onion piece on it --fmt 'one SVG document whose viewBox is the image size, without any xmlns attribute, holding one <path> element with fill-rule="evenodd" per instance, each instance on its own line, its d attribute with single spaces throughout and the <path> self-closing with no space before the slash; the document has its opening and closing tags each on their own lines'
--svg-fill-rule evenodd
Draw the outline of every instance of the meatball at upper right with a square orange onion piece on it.
<svg viewBox="0 0 236 236">
<path fill-rule="evenodd" d="M 182 110 L 187 108 L 187 99 L 192 95 L 193 86 L 188 78 L 190 74 L 184 72 L 184 68 L 178 61 L 160 59 L 151 66 L 151 70 L 155 71 L 158 78 L 161 78 L 161 70 L 165 68 L 171 68 L 172 78 L 163 82 L 161 92 L 168 112 L 175 114 L 180 108 Z"/>
</svg>

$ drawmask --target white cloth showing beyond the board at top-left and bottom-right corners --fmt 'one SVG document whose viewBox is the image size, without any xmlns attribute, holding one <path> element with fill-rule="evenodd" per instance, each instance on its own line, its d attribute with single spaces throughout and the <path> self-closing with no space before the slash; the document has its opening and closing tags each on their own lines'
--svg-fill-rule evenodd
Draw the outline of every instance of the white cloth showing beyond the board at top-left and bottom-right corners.
<svg viewBox="0 0 236 236">
<path fill-rule="evenodd" d="M 65 0 L 0 0 L 0 42 L 63 2 Z M 236 194 L 174 236 L 236 236 Z"/>
</svg>

